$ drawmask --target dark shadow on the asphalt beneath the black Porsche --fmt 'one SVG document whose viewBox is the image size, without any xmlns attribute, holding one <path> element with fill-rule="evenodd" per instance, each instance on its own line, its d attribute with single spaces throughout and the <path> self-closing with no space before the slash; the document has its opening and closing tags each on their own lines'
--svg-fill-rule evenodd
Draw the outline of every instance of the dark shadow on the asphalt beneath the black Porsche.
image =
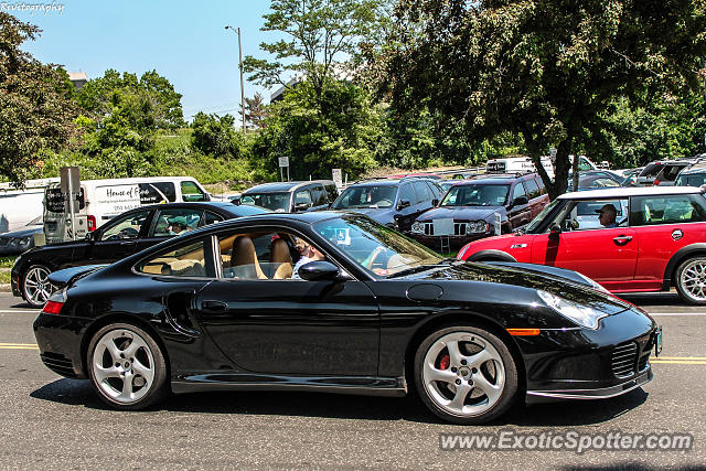
<svg viewBox="0 0 706 471">
<path fill-rule="evenodd" d="M 93 393 L 88 381 L 57 379 L 32 392 L 42 400 L 109 409 Z M 492 426 L 532 427 L 581 426 L 619 417 L 645 402 L 648 394 L 638 388 L 612 399 L 557 403 L 532 407 L 515 406 Z M 442 422 L 414 397 L 367 397 L 323 393 L 214 392 L 171 396 L 157 410 L 194 414 L 242 414 L 264 416 L 304 416 L 363 420 L 408 420 Z"/>
</svg>

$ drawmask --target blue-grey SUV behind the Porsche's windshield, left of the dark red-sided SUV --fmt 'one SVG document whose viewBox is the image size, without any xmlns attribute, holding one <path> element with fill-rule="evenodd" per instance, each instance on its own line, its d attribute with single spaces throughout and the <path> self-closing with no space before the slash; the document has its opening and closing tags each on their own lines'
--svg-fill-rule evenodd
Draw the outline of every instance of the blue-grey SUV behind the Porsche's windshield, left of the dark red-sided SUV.
<svg viewBox="0 0 706 471">
<path fill-rule="evenodd" d="M 429 178 L 376 179 L 346 188 L 332 208 L 362 213 L 406 233 L 417 216 L 432 208 L 442 194 L 441 188 Z"/>
</svg>

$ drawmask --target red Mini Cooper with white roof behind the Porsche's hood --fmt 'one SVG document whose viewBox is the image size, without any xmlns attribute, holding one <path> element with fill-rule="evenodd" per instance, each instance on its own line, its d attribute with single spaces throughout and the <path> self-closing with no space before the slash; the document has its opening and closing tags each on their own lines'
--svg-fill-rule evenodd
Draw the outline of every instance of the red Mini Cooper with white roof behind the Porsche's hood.
<svg viewBox="0 0 706 471">
<path fill-rule="evenodd" d="M 675 286 L 706 304 L 706 199 L 692 186 L 567 193 L 524 232 L 472 242 L 458 258 L 568 268 L 611 292 Z"/>
</svg>

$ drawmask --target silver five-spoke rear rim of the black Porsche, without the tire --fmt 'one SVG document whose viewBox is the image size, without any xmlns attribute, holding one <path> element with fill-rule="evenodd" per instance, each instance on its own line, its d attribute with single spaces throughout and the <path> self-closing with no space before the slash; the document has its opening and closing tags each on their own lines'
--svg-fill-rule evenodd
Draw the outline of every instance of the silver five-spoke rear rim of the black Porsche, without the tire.
<svg viewBox="0 0 706 471">
<path fill-rule="evenodd" d="M 129 329 L 108 331 L 93 351 L 93 376 L 100 392 L 120 405 L 139 402 L 154 383 L 154 356 Z"/>
</svg>

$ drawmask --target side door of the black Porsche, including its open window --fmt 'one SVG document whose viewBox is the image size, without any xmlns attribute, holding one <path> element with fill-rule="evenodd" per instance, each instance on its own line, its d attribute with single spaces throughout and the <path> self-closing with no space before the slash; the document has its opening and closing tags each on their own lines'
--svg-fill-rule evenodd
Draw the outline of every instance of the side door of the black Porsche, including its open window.
<svg viewBox="0 0 706 471">
<path fill-rule="evenodd" d="M 303 239 L 281 228 L 221 233 L 223 268 L 197 296 L 200 322 L 223 352 L 249 372 L 375 376 L 379 343 L 375 297 L 355 279 L 275 279 L 282 264 L 298 258 L 292 236 Z M 284 243 L 290 260 L 274 248 Z M 271 261 L 274 257 L 278 260 Z"/>
</svg>

